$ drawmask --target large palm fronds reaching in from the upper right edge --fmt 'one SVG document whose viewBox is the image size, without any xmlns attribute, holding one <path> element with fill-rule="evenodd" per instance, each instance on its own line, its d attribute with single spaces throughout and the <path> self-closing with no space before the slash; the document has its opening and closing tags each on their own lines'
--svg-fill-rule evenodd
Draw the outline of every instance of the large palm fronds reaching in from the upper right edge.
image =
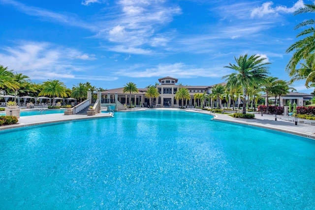
<svg viewBox="0 0 315 210">
<path fill-rule="evenodd" d="M 294 12 L 294 15 L 315 12 L 315 4 L 304 4 L 304 7 L 299 8 Z M 304 20 L 300 24 L 298 24 L 294 30 L 311 26 L 311 28 L 307 28 L 299 32 L 296 37 L 301 37 L 304 35 L 308 35 L 301 40 L 293 43 L 287 50 L 286 53 L 290 53 L 295 50 L 292 55 L 292 58 L 289 60 L 288 64 L 285 67 L 285 70 L 289 72 L 289 74 L 294 74 L 296 70 L 296 66 L 300 61 L 308 60 L 309 57 L 314 54 L 315 51 L 315 28 L 312 25 L 315 24 L 314 19 Z"/>
</svg>

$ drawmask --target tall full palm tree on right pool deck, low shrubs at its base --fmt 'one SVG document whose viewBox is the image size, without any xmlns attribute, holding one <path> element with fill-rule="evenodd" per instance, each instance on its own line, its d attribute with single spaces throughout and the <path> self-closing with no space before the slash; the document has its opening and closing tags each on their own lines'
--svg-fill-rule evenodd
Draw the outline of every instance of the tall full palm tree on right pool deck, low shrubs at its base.
<svg viewBox="0 0 315 210">
<path fill-rule="evenodd" d="M 258 86 L 264 84 L 265 79 L 269 73 L 267 64 L 264 62 L 266 58 L 261 58 L 257 55 L 252 55 L 248 58 L 248 55 L 241 55 L 238 59 L 234 57 L 237 65 L 229 63 L 226 68 L 231 68 L 236 73 L 225 75 L 222 79 L 226 78 L 227 86 L 237 87 L 241 86 L 243 89 L 243 114 L 246 114 L 246 95 L 247 88 L 252 86 Z"/>
</svg>

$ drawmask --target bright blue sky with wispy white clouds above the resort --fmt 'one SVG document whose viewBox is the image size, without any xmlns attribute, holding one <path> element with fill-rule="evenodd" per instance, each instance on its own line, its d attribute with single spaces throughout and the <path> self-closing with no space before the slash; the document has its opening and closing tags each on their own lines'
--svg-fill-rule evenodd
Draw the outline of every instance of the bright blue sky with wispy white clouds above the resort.
<svg viewBox="0 0 315 210">
<path fill-rule="evenodd" d="M 214 85 L 240 55 L 270 62 L 289 80 L 285 50 L 299 40 L 293 15 L 311 0 L 0 0 L 0 65 L 32 82 L 60 80 L 137 88 L 170 76 L 183 85 Z M 302 29 L 303 30 L 303 29 Z M 310 93 L 305 81 L 299 92 Z"/>
</svg>

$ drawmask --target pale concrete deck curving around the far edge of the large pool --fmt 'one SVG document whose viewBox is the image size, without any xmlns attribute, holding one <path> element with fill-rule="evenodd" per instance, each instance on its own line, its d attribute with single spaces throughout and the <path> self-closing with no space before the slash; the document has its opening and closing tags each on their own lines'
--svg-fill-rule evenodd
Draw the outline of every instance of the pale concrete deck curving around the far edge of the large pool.
<svg viewBox="0 0 315 210">
<path fill-rule="evenodd" d="M 148 108 L 137 108 L 129 111 L 143 111 L 148 110 Z M 157 110 L 174 110 L 173 108 L 157 108 Z M 127 111 L 127 112 L 129 112 Z M 255 119 L 240 119 L 232 118 L 225 114 L 210 113 L 209 111 L 204 111 L 201 109 L 186 109 L 188 112 L 197 112 L 208 115 L 214 115 L 213 120 L 223 121 L 227 123 L 238 123 L 249 126 L 267 128 L 276 131 L 282 131 L 285 133 L 290 133 L 298 136 L 303 136 L 311 139 L 315 139 L 315 125 L 297 123 L 292 121 L 280 120 L 277 121 L 273 115 L 255 114 Z M 56 123 L 64 121 L 74 121 L 74 120 L 90 120 L 90 119 L 99 119 L 99 118 L 111 118 L 112 116 L 109 113 L 100 113 L 94 116 L 87 115 L 63 115 L 63 114 L 46 114 L 46 115 L 33 115 L 20 117 L 17 124 L 0 126 L 0 130 L 7 130 L 12 128 L 27 127 L 32 125 L 40 125 L 46 123 Z"/>
</svg>

